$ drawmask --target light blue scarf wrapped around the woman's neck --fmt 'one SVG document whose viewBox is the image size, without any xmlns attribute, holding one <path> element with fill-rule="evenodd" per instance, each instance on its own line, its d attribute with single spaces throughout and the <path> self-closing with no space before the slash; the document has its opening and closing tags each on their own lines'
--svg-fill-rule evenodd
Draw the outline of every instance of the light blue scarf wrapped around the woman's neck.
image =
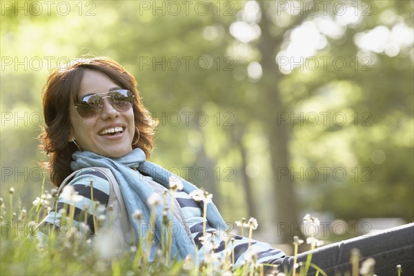
<svg viewBox="0 0 414 276">
<path fill-rule="evenodd" d="M 140 148 L 135 148 L 127 155 L 117 159 L 110 159 L 89 151 L 74 152 L 72 154 L 72 159 L 73 161 L 70 163 L 70 168 L 72 168 L 72 170 L 90 167 L 110 168 L 121 188 L 126 210 L 128 211 L 130 222 L 134 228 L 135 241 L 139 241 L 139 233 L 141 233 L 141 229 L 137 219 L 132 218 L 132 214 L 135 210 L 141 210 L 143 214 L 142 221 L 149 223 L 150 206 L 148 206 L 147 201 L 155 191 L 146 182 L 144 177 L 140 177 L 137 172 L 130 168 L 137 168 L 139 172 L 144 175 L 149 175 L 154 181 L 166 188 L 170 188 L 169 177 L 173 177 L 174 179 L 181 180 L 181 183 L 184 186 L 184 192 L 191 193 L 193 190 L 198 190 L 196 186 L 177 175 L 174 175 L 172 172 L 166 170 L 166 168 L 162 168 L 157 164 L 146 161 L 145 153 Z M 157 217 L 155 220 L 155 246 L 161 241 L 162 211 L 163 206 L 159 206 L 159 208 L 157 208 Z M 189 254 L 195 256 L 196 249 L 191 238 L 187 235 L 186 229 L 184 228 L 185 226 L 180 224 L 175 217 L 172 219 L 172 225 L 177 227 L 177 229 L 174 230 L 174 233 L 177 234 L 172 235 L 172 257 L 184 259 Z M 213 203 L 207 205 L 207 220 L 208 223 L 217 230 L 226 228 L 226 223 Z M 152 252 L 152 257 L 153 253 L 155 252 Z"/>
</svg>

